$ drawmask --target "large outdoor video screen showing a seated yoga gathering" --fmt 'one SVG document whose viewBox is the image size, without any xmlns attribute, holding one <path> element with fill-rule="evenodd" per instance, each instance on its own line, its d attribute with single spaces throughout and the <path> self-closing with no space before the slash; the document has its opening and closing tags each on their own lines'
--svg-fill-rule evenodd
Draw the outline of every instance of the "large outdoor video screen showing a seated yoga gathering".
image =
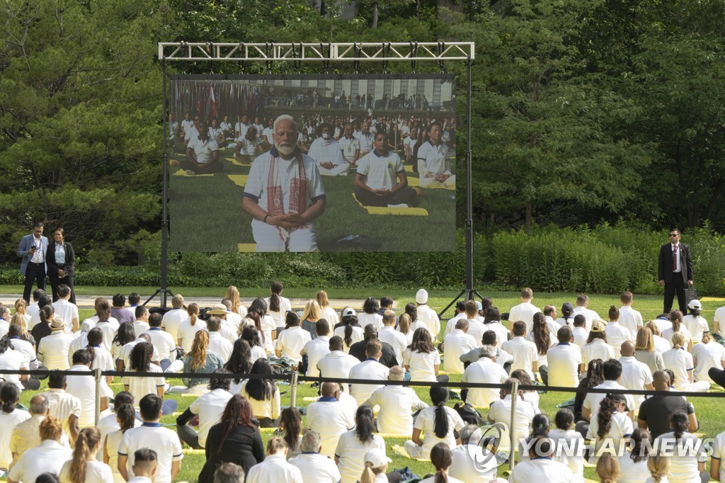
<svg viewBox="0 0 725 483">
<path fill-rule="evenodd" d="M 173 75 L 169 106 L 173 251 L 455 249 L 453 75 Z"/>
</svg>

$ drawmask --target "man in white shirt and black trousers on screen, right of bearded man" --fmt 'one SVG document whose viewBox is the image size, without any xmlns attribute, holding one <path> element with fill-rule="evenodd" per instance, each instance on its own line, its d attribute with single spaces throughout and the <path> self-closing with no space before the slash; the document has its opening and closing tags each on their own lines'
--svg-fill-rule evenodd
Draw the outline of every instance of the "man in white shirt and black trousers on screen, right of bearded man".
<svg viewBox="0 0 725 483">
<path fill-rule="evenodd" d="M 395 183 L 397 178 L 397 184 Z M 357 162 L 355 197 L 366 206 L 415 205 L 418 193 L 407 186 L 400 157 L 388 150 L 388 135 L 377 133 L 375 149 Z"/>
</svg>

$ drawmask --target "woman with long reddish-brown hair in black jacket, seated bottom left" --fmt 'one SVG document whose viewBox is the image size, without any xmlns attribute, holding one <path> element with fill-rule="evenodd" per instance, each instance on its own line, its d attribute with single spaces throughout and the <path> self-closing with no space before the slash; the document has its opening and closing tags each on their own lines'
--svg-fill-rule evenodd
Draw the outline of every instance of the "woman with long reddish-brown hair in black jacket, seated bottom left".
<svg viewBox="0 0 725 483">
<path fill-rule="evenodd" d="M 265 459 L 260 429 L 252 422 L 252 406 L 241 395 L 227 402 L 218 424 L 212 426 L 204 447 L 207 462 L 199 473 L 199 483 L 214 482 L 214 472 L 222 463 L 236 463 L 249 473 Z"/>
</svg>

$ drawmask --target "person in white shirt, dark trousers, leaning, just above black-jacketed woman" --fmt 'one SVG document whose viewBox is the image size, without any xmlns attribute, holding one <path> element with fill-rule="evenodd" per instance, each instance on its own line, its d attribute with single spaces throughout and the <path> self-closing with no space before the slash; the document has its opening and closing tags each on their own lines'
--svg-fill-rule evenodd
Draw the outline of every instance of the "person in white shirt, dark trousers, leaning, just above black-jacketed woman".
<svg viewBox="0 0 725 483">
<path fill-rule="evenodd" d="M 217 369 L 214 373 L 230 372 L 226 369 Z M 209 392 L 194 399 L 191 405 L 176 418 L 176 432 L 182 442 L 195 450 L 205 447 L 209 430 L 220 421 L 227 402 L 232 397 L 229 392 L 230 383 L 231 379 L 212 376 L 209 381 Z M 199 416 L 199 432 L 188 424 L 195 415 Z"/>
</svg>

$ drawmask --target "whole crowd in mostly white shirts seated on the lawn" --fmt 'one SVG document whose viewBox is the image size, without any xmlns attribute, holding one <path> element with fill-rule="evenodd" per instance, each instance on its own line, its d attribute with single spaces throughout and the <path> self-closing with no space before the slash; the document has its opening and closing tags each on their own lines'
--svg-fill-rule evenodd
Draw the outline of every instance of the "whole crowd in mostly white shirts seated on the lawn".
<svg viewBox="0 0 725 483">
<path fill-rule="evenodd" d="M 697 420 L 698 399 L 687 400 L 688 392 L 723 385 L 725 307 L 710 330 L 698 300 L 689 303 L 688 315 L 673 310 L 645 321 L 633 295 L 624 292 L 604 320 L 582 294 L 563 304 L 556 318 L 554 305 L 539 310 L 531 289 L 523 289 L 508 320 L 488 299 L 485 307 L 457 304 L 442 326 L 424 289 L 399 316 L 390 297 L 380 303 L 370 297 L 360 313 L 344 307 L 338 317 L 320 291 L 302 318 L 281 297 L 282 284 L 272 284 L 270 292 L 247 308 L 231 286 L 207 310 L 176 295 L 165 315 L 143 306 L 130 313 L 125 297 L 114 297 L 115 315 L 128 318 L 120 325 L 103 297 L 94 304 L 96 315 L 80 324 L 54 318 L 49 297 L 39 292 L 33 305 L 16 303 L 0 339 L 1 368 L 35 368 L 40 361 L 67 369 L 70 362 L 72 371 L 117 368 L 128 376 L 115 397 L 112 379 L 101 381 L 96 428 L 90 378 L 80 384 L 80 376 L 71 381 L 52 373 L 26 411 L 20 395 L 38 390 L 41 380 L 5 375 L 0 471 L 9 482 L 46 481 L 54 474 L 73 483 L 165 483 L 181 470 L 186 446 L 206 455 L 199 482 L 244 481 L 244 475 L 253 483 L 398 482 L 404 476 L 389 467 L 393 453 L 430 461 L 429 473 L 420 475 L 426 483 L 496 481 L 497 458 L 519 461 L 510 482 L 584 482 L 584 468 L 594 465 L 601 481 L 704 482 L 712 476 L 725 482 L 725 433 L 708 453 L 697 433 L 708 430 Z M 30 314 L 37 318 L 33 338 L 25 327 Z M 298 409 L 281 406 L 274 379 L 245 377 L 283 371 L 336 381 L 315 383 L 320 397 Z M 133 376 L 139 372 L 154 375 Z M 204 376 L 170 388 L 166 381 L 178 372 Z M 451 407 L 457 393 L 444 387 L 453 375 L 502 388 L 464 389 L 460 396 L 472 411 L 464 414 Z M 411 380 L 431 383 L 428 397 L 400 385 Z M 550 421 L 539 409 L 539 392 L 512 393 L 515 384 L 580 392 Z M 660 394 L 622 393 L 631 389 Z M 159 423 L 178 405 L 169 392 L 193 398 L 175 413 L 176 431 Z M 510 434 L 514 401 L 510 447 L 508 434 L 491 438 L 481 424 L 487 419 Z M 472 413 L 478 424 L 462 418 Z M 265 451 L 266 428 L 282 437 L 269 439 Z M 387 437 L 407 440 L 389 445 Z M 663 442 L 674 450 L 667 453 Z M 575 450 L 563 454 L 563 447 Z"/>
</svg>

